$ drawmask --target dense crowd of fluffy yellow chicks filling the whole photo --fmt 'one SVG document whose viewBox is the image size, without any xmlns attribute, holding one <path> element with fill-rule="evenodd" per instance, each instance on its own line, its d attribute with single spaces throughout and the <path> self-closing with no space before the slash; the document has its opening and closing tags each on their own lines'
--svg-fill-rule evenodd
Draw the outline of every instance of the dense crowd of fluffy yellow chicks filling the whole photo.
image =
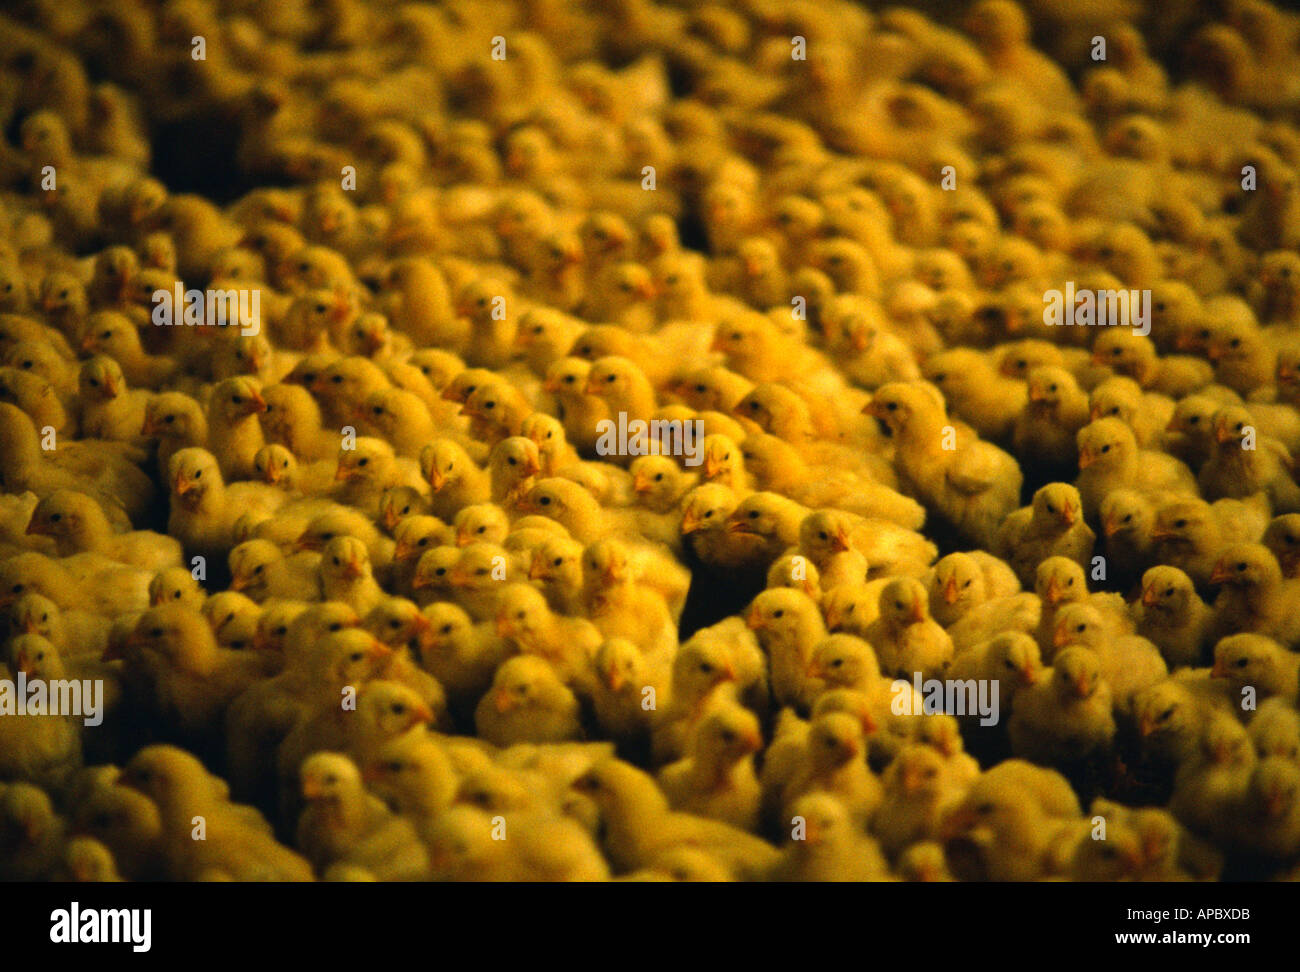
<svg viewBox="0 0 1300 972">
<path fill-rule="evenodd" d="M 25 4 L 4 674 L 108 712 L 0 875 L 1295 875 L 1300 19 L 1209 8 Z"/>
</svg>

